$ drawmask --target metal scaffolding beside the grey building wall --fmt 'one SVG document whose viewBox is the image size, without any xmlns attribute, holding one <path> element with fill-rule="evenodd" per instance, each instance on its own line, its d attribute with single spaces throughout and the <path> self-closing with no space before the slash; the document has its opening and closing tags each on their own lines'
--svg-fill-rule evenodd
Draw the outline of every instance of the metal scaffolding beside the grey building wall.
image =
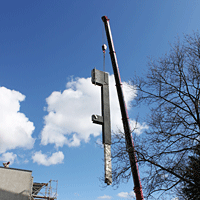
<svg viewBox="0 0 200 200">
<path fill-rule="evenodd" d="M 48 183 L 33 183 L 31 200 L 55 200 L 57 199 L 58 180 L 50 180 Z"/>
</svg>

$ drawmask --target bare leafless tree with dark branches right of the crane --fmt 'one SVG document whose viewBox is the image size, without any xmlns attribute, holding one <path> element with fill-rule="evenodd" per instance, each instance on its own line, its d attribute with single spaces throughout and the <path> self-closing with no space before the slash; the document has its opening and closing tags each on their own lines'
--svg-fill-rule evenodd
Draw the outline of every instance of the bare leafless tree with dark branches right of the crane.
<svg viewBox="0 0 200 200">
<path fill-rule="evenodd" d="M 183 43 L 178 40 L 168 55 L 148 66 L 148 74 L 133 78 L 132 85 L 137 90 L 134 106 L 149 108 L 149 129 L 133 137 L 146 198 L 154 194 L 161 199 L 181 192 L 183 183 L 195 185 L 184 171 L 200 143 L 199 34 L 185 36 Z M 113 183 L 119 185 L 131 176 L 122 133 L 113 136 L 112 154 Z"/>
</svg>

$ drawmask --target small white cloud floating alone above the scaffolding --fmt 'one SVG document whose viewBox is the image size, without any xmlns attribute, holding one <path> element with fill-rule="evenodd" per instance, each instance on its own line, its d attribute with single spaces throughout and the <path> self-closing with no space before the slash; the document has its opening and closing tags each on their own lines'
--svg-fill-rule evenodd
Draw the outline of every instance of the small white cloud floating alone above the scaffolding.
<svg viewBox="0 0 200 200">
<path fill-rule="evenodd" d="M 58 151 L 48 157 L 46 154 L 42 154 L 41 151 L 38 151 L 35 152 L 32 159 L 34 163 L 36 162 L 39 165 L 50 166 L 62 163 L 64 160 L 64 154 L 62 151 Z"/>
</svg>

